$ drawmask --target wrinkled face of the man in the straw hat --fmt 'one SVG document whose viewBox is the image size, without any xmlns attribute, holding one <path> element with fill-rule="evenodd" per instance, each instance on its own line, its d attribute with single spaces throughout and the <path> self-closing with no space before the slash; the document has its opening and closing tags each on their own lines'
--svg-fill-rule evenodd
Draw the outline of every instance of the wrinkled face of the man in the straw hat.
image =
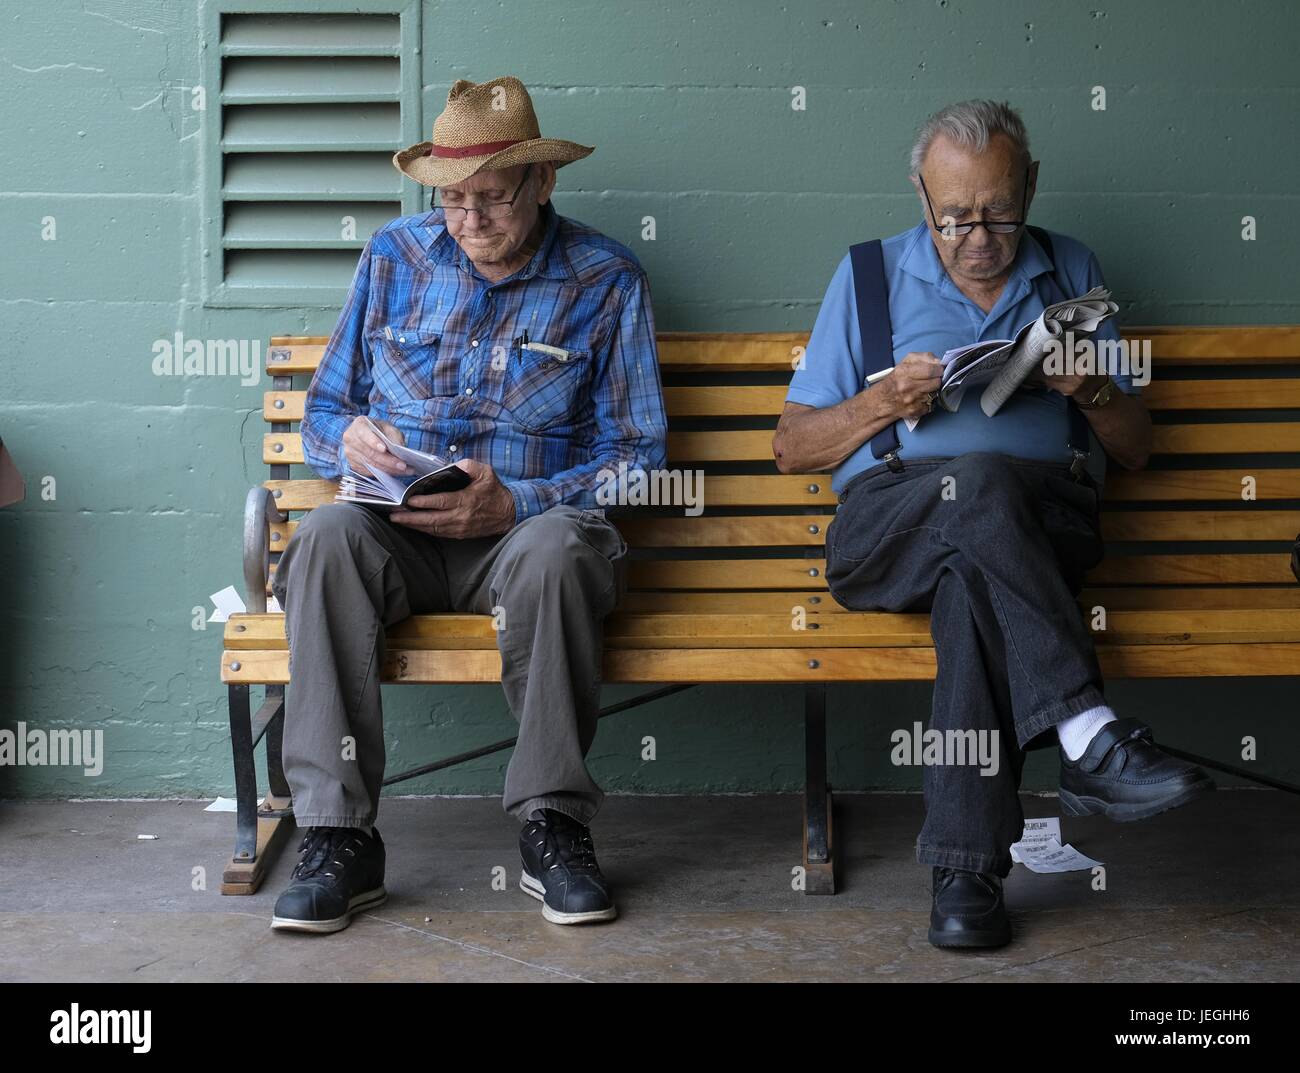
<svg viewBox="0 0 1300 1073">
<path fill-rule="evenodd" d="M 455 186 L 439 186 L 438 202 L 446 208 L 503 211 L 506 202 L 515 198 L 515 190 L 524 178 L 526 165 L 517 164 L 499 172 L 478 172 Z M 514 212 L 499 219 L 488 219 L 481 212 L 469 212 L 464 220 L 447 213 L 447 233 L 465 251 L 474 264 L 508 263 L 523 248 L 529 232 L 537 224 L 541 205 L 550 198 L 555 170 L 549 164 L 533 164 L 528 181 L 515 199 Z"/>
</svg>

